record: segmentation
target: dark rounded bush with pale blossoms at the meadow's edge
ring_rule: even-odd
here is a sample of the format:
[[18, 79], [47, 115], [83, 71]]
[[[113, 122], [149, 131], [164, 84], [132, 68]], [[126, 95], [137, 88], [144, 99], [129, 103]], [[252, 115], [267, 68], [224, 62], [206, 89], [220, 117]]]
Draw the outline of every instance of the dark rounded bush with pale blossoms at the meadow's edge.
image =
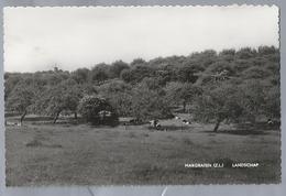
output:
[[117, 126], [118, 115], [112, 106], [103, 98], [97, 96], [85, 96], [78, 106], [78, 111], [92, 124]]

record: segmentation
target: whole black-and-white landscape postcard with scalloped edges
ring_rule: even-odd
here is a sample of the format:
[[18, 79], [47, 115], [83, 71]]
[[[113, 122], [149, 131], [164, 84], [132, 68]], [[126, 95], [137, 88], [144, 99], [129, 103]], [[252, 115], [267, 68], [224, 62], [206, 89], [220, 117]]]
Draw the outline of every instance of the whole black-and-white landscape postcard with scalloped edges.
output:
[[280, 184], [277, 6], [3, 8], [6, 186]]

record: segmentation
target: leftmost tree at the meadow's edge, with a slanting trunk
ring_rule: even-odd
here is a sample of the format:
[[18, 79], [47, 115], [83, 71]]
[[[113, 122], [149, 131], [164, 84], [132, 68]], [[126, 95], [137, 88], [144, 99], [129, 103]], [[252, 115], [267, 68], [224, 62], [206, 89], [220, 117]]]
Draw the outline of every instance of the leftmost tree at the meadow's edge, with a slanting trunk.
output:
[[10, 111], [15, 111], [22, 113], [20, 118], [20, 123], [22, 124], [29, 107], [34, 102], [35, 94], [31, 86], [26, 86], [24, 83], [19, 83], [7, 100], [7, 109]]

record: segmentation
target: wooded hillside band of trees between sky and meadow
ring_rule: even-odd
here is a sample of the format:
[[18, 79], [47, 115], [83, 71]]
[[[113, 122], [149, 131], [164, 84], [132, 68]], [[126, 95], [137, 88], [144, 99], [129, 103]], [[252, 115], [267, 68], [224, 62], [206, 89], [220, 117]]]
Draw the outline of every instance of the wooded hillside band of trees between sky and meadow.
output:
[[[279, 50], [274, 46], [207, 50], [188, 56], [100, 63], [74, 72], [6, 73], [7, 112], [54, 117], [85, 113], [86, 96], [105, 99], [119, 117], [141, 120], [188, 112], [213, 122], [279, 118]], [[87, 98], [85, 98], [87, 100]]]

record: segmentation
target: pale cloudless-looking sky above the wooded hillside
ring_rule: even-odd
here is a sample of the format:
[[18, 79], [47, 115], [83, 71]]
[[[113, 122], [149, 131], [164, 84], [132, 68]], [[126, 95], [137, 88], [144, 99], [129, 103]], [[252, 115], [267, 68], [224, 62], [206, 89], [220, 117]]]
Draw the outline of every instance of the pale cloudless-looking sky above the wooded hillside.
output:
[[279, 46], [278, 8], [4, 8], [4, 70], [92, 67], [260, 45]]

